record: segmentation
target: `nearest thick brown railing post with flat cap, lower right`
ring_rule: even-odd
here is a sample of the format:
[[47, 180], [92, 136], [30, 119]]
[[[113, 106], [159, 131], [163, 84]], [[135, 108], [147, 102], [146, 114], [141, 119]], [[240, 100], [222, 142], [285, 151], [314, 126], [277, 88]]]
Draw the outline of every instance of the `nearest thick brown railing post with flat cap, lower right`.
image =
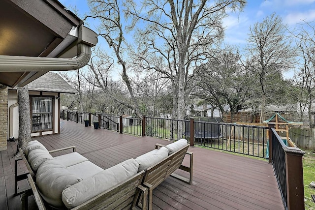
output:
[[299, 148], [286, 147], [285, 172], [288, 210], [304, 210], [303, 162], [305, 154]]

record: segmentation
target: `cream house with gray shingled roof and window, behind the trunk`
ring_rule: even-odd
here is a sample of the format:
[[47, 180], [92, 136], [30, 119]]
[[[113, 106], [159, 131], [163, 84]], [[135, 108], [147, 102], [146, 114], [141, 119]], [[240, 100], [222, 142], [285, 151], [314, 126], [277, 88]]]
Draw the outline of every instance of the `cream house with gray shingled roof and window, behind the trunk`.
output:
[[[30, 94], [32, 136], [60, 132], [60, 93], [75, 93], [57, 73], [48, 72], [31, 82]], [[6, 113], [5, 113], [6, 114]], [[8, 89], [7, 139], [19, 137], [19, 109], [16, 88]]]

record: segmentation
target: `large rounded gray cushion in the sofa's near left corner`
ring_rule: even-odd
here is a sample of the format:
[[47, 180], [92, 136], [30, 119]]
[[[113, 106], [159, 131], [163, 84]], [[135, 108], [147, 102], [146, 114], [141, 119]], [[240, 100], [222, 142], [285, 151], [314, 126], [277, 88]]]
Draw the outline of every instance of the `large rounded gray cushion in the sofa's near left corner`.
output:
[[81, 181], [56, 160], [42, 163], [36, 174], [36, 184], [43, 199], [54, 208], [64, 208], [62, 191]]

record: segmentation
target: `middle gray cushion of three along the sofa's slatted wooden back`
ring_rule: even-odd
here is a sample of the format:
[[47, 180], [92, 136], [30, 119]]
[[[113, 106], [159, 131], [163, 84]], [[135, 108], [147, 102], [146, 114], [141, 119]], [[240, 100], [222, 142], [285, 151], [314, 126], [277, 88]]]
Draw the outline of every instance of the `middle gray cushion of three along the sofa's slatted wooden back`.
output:
[[161, 147], [159, 150], [152, 150], [136, 158], [139, 163], [138, 172], [146, 170], [150, 166], [158, 163], [160, 160], [168, 156], [168, 150], [165, 147]]

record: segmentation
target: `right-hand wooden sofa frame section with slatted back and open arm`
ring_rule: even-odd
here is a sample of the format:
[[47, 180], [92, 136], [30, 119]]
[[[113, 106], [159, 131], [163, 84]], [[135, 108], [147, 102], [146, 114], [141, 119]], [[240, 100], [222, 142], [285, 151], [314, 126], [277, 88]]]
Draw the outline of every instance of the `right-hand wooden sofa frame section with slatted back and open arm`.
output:
[[[159, 147], [163, 147], [164, 145], [156, 144], [155, 149]], [[193, 153], [187, 151], [189, 148], [189, 144], [185, 147], [177, 150], [176, 152], [168, 155], [155, 165], [149, 167], [145, 171], [145, 175], [143, 178], [143, 186], [148, 188], [149, 190], [149, 199], [148, 199], [148, 207], [149, 210], [152, 210], [152, 199], [153, 199], [153, 190], [163, 182], [168, 176], [175, 177], [176, 179], [182, 180], [186, 183], [192, 183], [192, 164], [193, 164]], [[183, 166], [182, 162], [184, 160], [185, 155], [189, 155], [189, 167]], [[174, 172], [177, 169], [184, 170], [189, 173], [189, 179], [182, 177]]]

